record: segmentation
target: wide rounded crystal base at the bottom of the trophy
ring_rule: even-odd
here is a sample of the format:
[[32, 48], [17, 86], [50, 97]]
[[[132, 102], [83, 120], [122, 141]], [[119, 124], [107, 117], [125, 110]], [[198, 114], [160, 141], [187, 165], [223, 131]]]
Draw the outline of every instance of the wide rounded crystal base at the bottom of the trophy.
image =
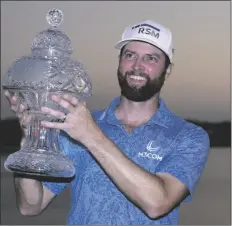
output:
[[37, 150], [19, 150], [10, 154], [4, 162], [9, 172], [18, 174], [71, 178], [75, 175], [73, 162], [62, 153]]

